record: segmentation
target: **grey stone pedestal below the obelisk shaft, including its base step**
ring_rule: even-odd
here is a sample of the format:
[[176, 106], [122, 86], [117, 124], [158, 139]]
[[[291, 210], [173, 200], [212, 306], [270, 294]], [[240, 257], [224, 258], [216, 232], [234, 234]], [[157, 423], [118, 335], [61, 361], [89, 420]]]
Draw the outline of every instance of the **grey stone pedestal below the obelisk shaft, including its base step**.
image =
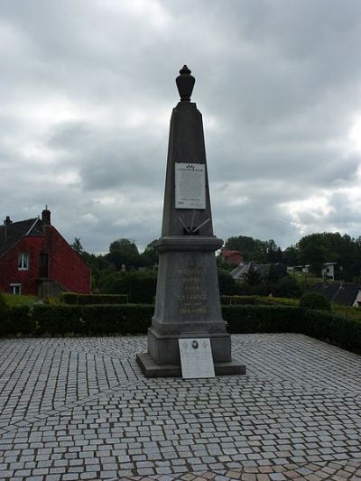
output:
[[216, 375], [244, 375], [232, 361], [231, 338], [222, 319], [214, 251], [215, 236], [164, 236], [148, 352], [136, 360], [147, 377], [180, 376], [180, 338], [209, 338]]

